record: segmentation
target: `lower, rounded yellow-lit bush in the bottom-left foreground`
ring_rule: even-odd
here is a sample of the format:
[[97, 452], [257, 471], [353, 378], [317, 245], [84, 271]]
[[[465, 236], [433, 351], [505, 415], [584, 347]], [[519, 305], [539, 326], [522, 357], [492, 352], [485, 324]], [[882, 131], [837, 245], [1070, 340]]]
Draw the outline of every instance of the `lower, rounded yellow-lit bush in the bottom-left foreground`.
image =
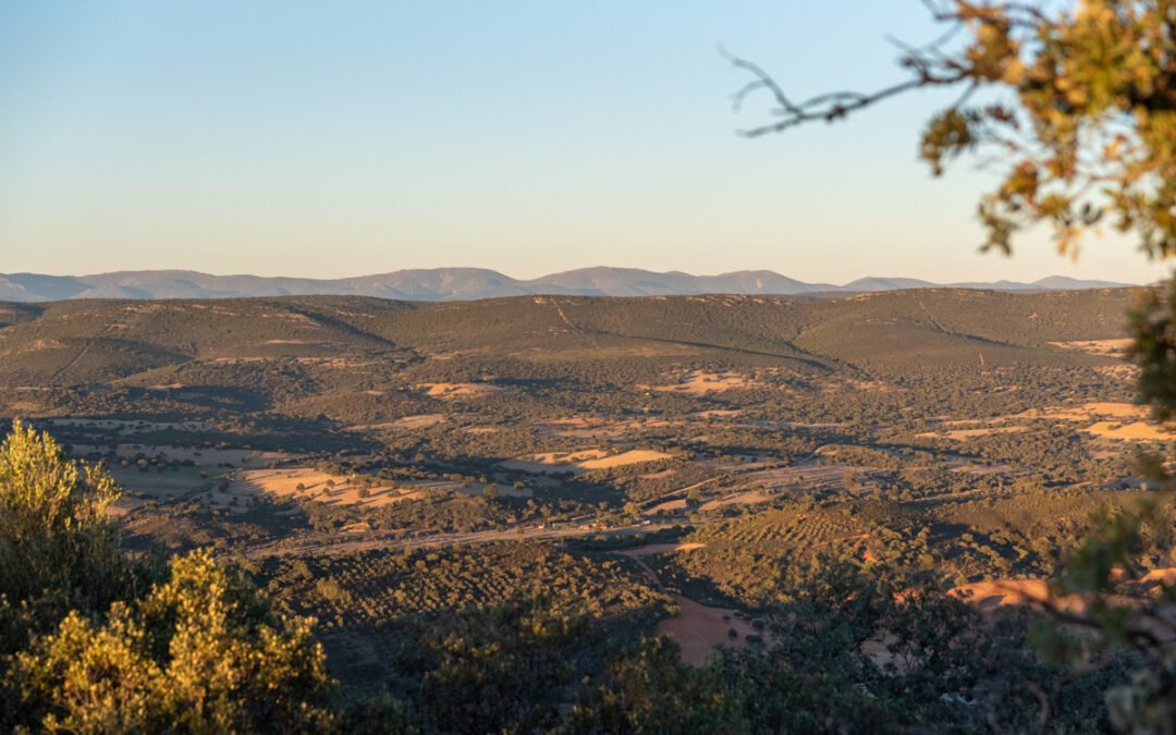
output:
[[48, 731], [318, 731], [332, 681], [307, 620], [276, 616], [209, 552], [106, 622], [71, 613], [18, 656], [26, 706]]

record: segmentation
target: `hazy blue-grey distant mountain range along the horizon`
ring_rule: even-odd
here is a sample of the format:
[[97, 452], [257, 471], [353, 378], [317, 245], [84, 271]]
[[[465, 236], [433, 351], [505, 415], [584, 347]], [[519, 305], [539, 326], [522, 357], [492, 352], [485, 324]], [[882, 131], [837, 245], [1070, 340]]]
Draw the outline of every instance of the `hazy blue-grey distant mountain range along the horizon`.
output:
[[358, 295], [408, 301], [465, 301], [529, 294], [580, 296], [671, 296], [691, 294], [837, 294], [906, 288], [982, 288], [1009, 292], [1121, 288], [1129, 283], [1054, 275], [1016, 281], [931, 283], [918, 279], [866, 278], [835, 286], [806, 283], [771, 270], [690, 275], [636, 268], [581, 268], [532, 280], [485, 268], [396, 270], [350, 279], [209, 275], [193, 270], [122, 270], [96, 275], [0, 274], [0, 301], [62, 299], [229, 299], [242, 296]]

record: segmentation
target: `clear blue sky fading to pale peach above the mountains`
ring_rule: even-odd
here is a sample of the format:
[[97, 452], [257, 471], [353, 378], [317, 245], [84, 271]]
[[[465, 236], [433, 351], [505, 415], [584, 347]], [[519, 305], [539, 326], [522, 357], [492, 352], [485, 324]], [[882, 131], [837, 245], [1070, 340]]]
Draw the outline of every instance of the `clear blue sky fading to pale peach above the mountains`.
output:
[[720, 45], [797, 96], [894, 80], [917, 0], [0, 4], [0, 272], [612, 265], [1147, 281], [1127, 240], [978, 255], [922, 93], [748, 141]]

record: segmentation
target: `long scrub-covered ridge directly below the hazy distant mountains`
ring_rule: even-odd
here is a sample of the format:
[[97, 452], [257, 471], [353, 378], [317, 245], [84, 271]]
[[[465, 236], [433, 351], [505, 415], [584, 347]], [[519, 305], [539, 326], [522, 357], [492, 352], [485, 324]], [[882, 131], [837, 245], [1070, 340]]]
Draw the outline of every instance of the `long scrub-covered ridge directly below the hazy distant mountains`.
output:
[[[835, 300], [757, 296], [520, 296], [454, 303], [292, 296], [216, 301], [0, 303], [0, 382], [186, 385], [209, 373], [443, 360], [656, 360], [887, 370], [930, 365], [1075, 365], [1109, 359], [1050, 342], [1123, 336], [1127, 290], [928, 289]], [[250, 367], [253, 366], [253, 367]], [[193, 370], [196, 374], [191, 374]], [[189, 373], [189, 375], [180, 375]], [[229, 381], [232, 383], [233, 381]], [[212, 383], [215, 385], [215, 381]]]

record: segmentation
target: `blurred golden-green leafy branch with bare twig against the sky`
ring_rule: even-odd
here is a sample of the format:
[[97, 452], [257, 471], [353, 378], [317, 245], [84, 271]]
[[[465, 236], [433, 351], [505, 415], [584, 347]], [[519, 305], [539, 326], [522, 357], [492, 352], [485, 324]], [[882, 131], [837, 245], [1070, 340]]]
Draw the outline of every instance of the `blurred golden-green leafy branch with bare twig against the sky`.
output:
[[[762, 67], [731, 58], [753, 80], [735, 95], [767, 93], [775, 120], [749, 138], [833, 122], [915, 89], [962, 87], [931, 118], [920, 156], [934, 174], [984, 148], [1003, 180], [978, 205], [984, 249], [1044, 222], [1060, 252], [1107, 219], [1135, 232], [1151, 258], [1176, 254], [1176, 7], [1168, 0], [1080, 0], [1073, 12], [1023, 2], [926, 0], [947, 26], [936, 41], [902, 49], [908, 79], [875, 92], [794, 101]], [[963, 39], [958, 41], [957, 39]], [[981, 91], [1009, 94], [973, 102]], [[991, 96], [991, 95], [985, 95]]]

